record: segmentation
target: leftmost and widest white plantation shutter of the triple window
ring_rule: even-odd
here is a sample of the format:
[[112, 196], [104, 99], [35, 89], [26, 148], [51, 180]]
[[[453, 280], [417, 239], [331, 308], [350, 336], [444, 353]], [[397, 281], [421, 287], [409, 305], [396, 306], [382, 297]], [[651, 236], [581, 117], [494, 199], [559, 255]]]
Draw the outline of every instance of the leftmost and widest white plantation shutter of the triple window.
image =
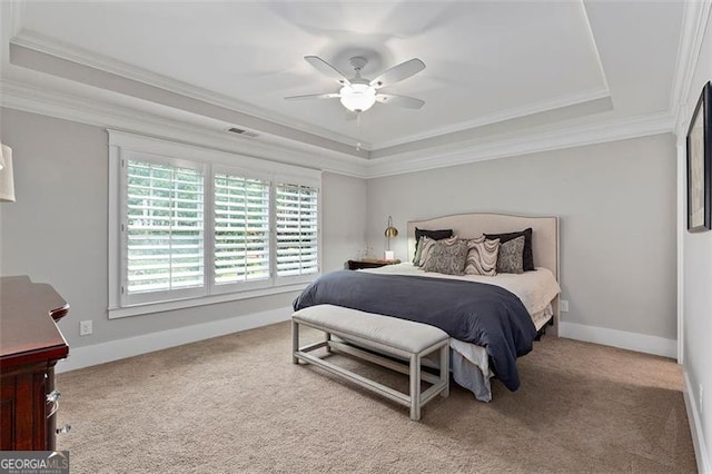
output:
[[205, 285], [202, 170], [128, 160], [127, 296]]

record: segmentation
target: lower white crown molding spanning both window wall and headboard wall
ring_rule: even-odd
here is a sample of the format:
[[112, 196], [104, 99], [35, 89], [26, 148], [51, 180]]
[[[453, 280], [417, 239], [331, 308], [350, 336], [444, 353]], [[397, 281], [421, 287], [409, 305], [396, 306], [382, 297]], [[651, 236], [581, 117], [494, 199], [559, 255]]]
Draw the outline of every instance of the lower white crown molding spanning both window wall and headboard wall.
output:
[[[279, 144], [260, 142], [226, 136], [212, 128], [187, 121], [167, 119], [135, 109], [108, 105], [69, 93], [48, 91], [17, 82], [0, 81], [2, 107], [61, 118], [70, 121], [130, 131], [157, 138], [198, 145], [276, 162], [298, 165], [362, 179], [424, 171], [455, 165], [528, 155], [538, 151], [572, 148], [606, 141], [672, 132], [673, 119], [668, 112], [634, 119], [581, 125], [555, 131], [530, 134], [514, 139], [463, 144], [456, 150], [424, 149], [417, 152], [364, 160], [328, 152], [291, 140]], [[279, 138], [270, 137], [275, 140]]]

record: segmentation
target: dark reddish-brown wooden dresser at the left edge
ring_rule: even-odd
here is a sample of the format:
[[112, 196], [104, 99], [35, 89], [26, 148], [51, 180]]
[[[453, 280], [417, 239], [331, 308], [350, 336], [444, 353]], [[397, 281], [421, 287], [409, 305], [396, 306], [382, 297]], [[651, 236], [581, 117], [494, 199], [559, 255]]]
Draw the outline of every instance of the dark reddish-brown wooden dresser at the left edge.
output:
[[68, 312], [50, 285], [0, 278], [0, 451], [55, 450], [55, 365], [69, 353], [56, 323]]

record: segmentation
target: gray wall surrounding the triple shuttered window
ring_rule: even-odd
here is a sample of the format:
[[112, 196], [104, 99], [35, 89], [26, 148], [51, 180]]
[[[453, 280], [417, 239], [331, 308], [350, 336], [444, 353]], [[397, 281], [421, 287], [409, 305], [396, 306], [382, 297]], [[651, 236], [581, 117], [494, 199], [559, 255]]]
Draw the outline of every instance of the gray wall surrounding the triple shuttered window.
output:
[[[295, 293], [189, 309], [107, 318], [108, 135], [99, 127], [2, 109], [13, 149], [17, 203], [0, 204], [0, 275], [49, 283], [70, 303], [60, 328], [71, 347], [287, 307]], [[363, 179], [323, 178], [323, 266], [342, 268], [363, 248]], [[79, 322], [93, 334], [79, 337]]]

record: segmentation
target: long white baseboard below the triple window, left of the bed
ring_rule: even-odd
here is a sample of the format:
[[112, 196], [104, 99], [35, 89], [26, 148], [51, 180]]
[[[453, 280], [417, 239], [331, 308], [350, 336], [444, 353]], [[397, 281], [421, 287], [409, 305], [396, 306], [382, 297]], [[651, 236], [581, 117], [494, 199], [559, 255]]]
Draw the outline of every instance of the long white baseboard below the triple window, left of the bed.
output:
[[91, 365], [224, 336], [259, 326], [267, 326], [269, 324], [288, 320], [291, 317], [291, 313], [293, 309], [290, 307], [285, 307], [125, 339], [110, 340], [91, 346], [70, 347], [69, 357], [57, 363], [56, 372], [76, 371]]

